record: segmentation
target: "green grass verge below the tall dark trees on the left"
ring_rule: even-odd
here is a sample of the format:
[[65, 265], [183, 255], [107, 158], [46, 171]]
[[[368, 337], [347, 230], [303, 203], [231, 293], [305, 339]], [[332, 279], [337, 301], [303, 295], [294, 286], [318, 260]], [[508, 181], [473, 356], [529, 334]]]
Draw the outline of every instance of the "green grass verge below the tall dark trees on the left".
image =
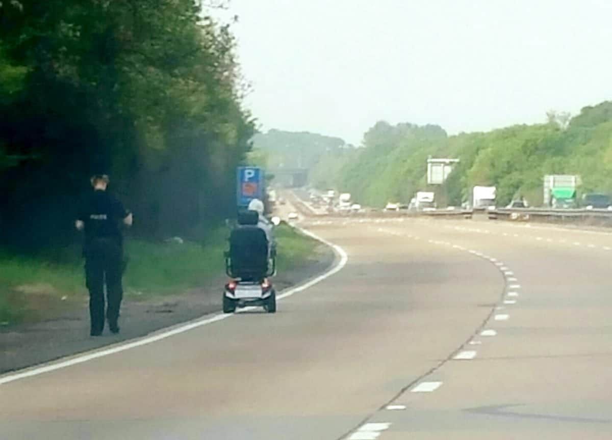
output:
[[[318, 243], [312, 238], [286, 224], [274, 233], [279, 272], [299, 268], [318, 257]], [[228, 230], [218, 228], [203, 243], [127, 240], [125, 295], [146, 299], [176, 294], [223, 276], [227, 237]], [[83, 263], [76, 258], [53, 263], [44, 257], [0, 254], [0, 325], [49, 317], [54, 311], [83, 301], [87, 298]]]

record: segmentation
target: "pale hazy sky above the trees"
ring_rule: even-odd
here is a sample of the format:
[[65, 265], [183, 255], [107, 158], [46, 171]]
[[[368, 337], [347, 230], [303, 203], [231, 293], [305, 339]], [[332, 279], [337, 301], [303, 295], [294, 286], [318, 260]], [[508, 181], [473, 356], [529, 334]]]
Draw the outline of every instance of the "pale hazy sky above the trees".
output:
[[449, 133], [612, 99], [609, 0], [231, 0], [261, 128], [359, 143], [377, 120]]

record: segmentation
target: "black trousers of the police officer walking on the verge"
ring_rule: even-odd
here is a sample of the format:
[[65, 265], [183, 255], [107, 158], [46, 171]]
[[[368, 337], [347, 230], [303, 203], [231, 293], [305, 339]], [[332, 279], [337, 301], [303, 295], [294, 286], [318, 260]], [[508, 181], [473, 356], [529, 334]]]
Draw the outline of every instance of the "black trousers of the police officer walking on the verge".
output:
[[116, 325], [123, 298], [121, 285], [123, 251], [117, 240], [98, 238], [91, 240], [85, 249], [85, 278], [89, 289], [89, 315], [92, 333], [104, 329], [104, 282], [108, 307], [106, 318]]

